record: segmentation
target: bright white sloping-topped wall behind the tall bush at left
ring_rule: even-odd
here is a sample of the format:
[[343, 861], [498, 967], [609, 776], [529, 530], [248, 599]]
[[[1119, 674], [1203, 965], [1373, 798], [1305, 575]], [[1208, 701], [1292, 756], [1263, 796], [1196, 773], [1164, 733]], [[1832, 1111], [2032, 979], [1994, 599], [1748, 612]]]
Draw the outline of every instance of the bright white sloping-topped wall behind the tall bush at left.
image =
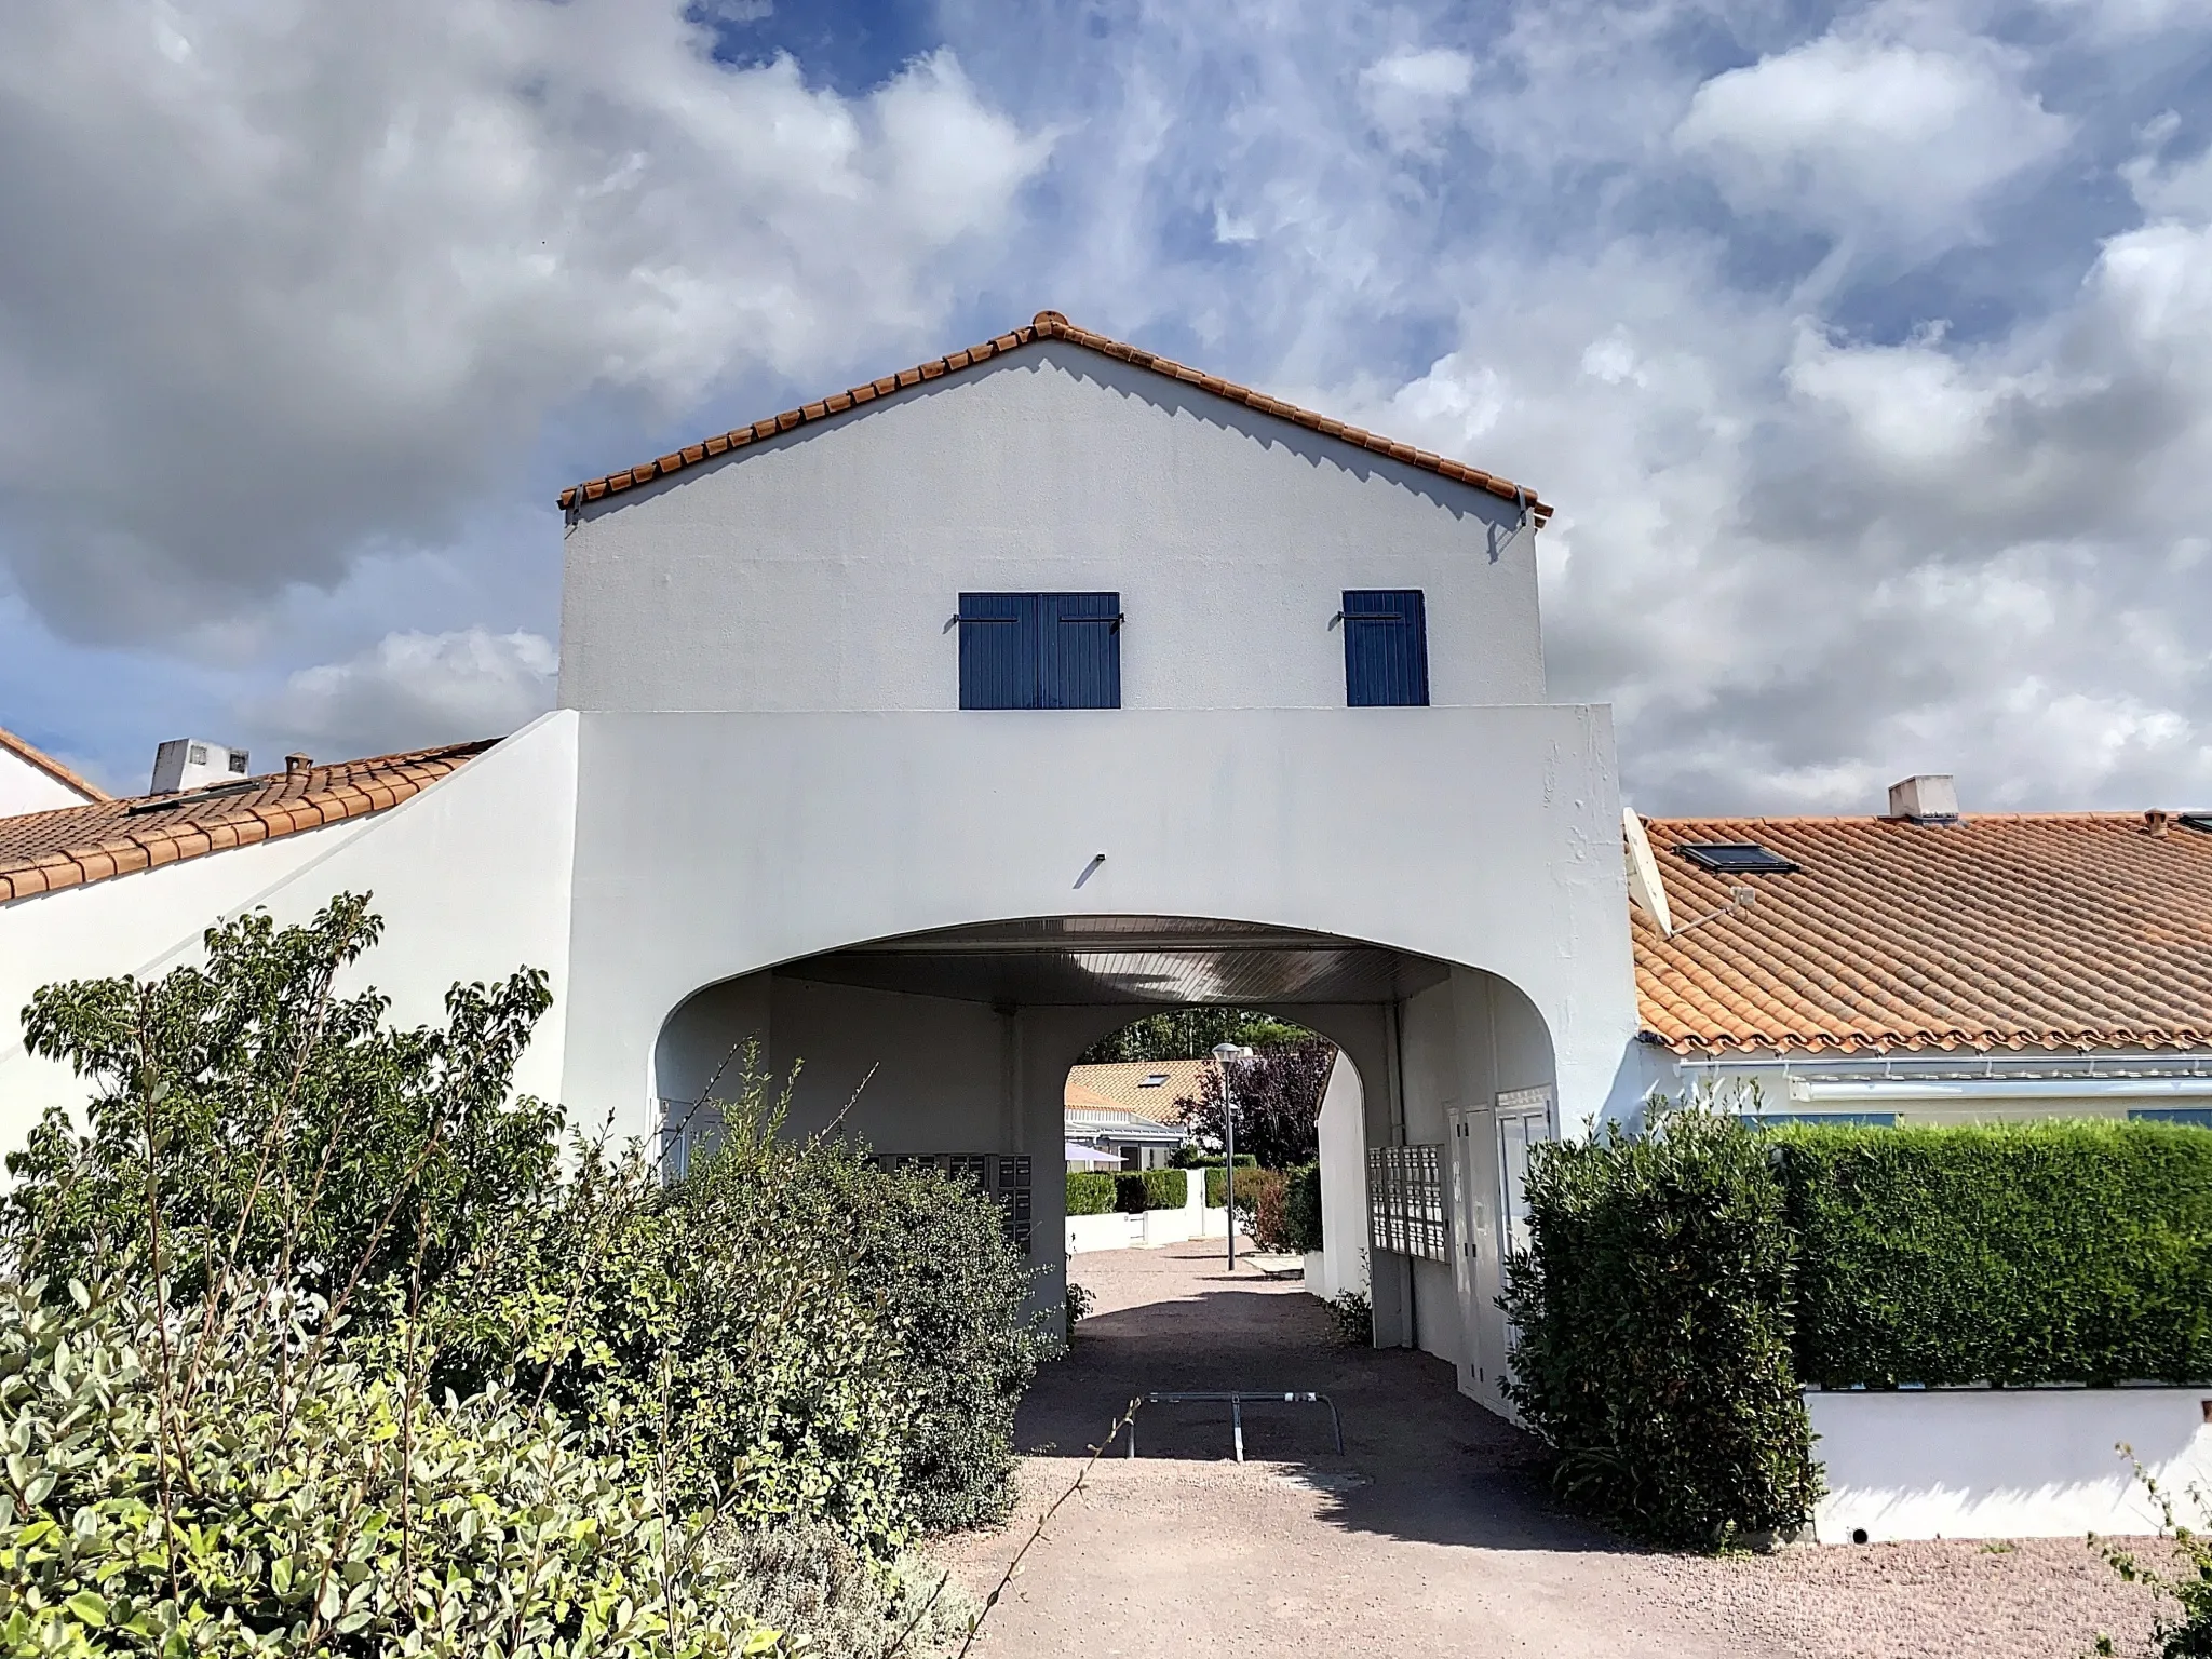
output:
[[221, 918], [268, 907], [279, 922], [307, 920], [338, 891], [376, 898], [385, 945], [354, 982], [383, 989], [398, 1022], [442, 1018], [456, 980], [546, 969], [553, 1013], [515, 1082], [557, 1099], [573, 823], [575, 717], [549, 714], [389, 812], [0, 905], [0, 1144], [88, 1095], [66, 1066], [22, 1048], [18, 1011], [40, 984], [164, 973], [195, 960]]

